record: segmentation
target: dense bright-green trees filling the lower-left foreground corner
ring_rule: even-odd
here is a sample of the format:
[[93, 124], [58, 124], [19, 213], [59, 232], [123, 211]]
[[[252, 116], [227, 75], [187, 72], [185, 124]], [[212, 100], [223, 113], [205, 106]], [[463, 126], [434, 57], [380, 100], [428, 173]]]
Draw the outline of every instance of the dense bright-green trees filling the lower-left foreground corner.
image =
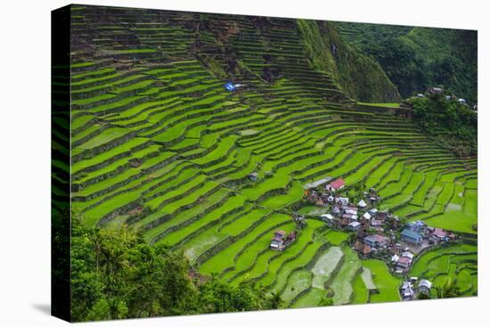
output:
[[267, 310], [278, 296], [246, 283], [192, 274], [182, 252], [150, 245], [126, 225], [88, 228], [81, 218], [71, 229], [72, 321], [143, 318]]

